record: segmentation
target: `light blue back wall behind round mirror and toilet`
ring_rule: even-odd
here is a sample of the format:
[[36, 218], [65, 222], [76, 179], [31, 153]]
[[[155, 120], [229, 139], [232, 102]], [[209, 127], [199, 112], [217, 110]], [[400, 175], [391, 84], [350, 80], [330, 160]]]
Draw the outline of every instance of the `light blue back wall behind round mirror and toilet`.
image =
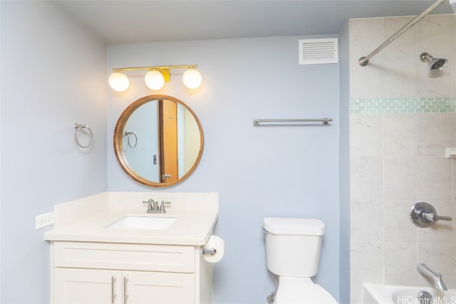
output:
[[[177, 75], [183, 70], [172, 70], [172, 81], [157, 92], [184, 101], [201, 120], [205, 147], [195, 172], [175, 187], [150, 189], [127, 177], [108, 149], [108, 190], [219, 193], [214, 232], [224, 239], [226, 251], [215, 265], [218, 304], [265, 303], [275, 289], [266, 270], [264, 216], [326, 223], [316, 282], [339, 296], [338, 65], [298, 65], [299, 38], [304, 37], [108, 47], [108, 68], [197, 64], [202, 73], [196, 93], [183, 88]], [[126, 92], [109, 92], [108, 134], [130, 103], [154, 93], [145, 88], [144, 73], [133, 75]], [[328, 127], [252, 124], [255, 118], [318, 117], [334, 122]], [[346, 246], [341, 245], [348, 251]]]

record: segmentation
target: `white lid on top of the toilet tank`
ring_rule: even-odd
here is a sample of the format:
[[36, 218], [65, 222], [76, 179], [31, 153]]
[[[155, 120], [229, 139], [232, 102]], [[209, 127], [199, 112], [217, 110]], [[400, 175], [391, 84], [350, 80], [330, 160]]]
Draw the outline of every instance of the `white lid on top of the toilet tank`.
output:
[[319, 219], [265, 217], [263, 228], [272, 234], [321, 236], [325, 233], [325, 224]]

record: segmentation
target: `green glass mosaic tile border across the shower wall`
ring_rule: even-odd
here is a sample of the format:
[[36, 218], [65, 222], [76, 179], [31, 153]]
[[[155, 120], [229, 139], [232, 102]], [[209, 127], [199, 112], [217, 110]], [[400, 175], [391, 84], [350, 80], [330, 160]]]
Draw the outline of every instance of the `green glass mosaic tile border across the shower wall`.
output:
[[456, 97], [351, 99], [350, 114], [408, 114], [456, 112]]

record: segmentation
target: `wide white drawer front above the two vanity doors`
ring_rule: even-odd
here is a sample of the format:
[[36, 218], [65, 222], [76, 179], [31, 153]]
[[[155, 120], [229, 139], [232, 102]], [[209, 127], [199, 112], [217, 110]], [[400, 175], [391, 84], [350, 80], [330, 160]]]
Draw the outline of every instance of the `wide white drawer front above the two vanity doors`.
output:
[[195, 272], [195, 247], [56, 241], [55, 267]]

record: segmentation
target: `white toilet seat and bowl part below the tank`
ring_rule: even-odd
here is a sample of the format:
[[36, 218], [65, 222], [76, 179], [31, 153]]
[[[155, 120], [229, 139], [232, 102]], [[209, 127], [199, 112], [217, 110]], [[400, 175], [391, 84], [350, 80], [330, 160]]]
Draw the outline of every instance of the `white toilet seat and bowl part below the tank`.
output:
[[337, 304], [333, 296], [311, 278], [279, 277], [276, 304]]

